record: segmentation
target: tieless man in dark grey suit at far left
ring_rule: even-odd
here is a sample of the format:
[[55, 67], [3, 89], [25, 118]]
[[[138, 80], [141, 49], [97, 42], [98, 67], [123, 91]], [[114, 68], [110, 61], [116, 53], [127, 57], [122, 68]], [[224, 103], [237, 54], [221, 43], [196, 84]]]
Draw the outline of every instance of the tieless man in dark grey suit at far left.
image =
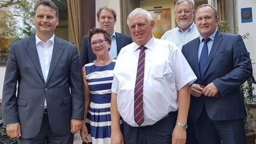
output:
[[77, 48], [54, 35], [59, 18], [52, 1], [36, 3], [34, 23], [36, 35], [12, 43], [9, 50], [3, 121], [19, 144], [72, 144], [84, 117]]

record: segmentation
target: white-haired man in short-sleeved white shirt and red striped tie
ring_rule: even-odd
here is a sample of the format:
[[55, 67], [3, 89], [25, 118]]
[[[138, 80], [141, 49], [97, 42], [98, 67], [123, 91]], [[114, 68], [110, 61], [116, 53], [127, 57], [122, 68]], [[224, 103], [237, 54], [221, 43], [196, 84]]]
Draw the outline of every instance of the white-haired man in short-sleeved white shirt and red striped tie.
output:
[[153, 37], [148, 11], [136, 8], [127, 24], [135, 42], [121, 50], [113, 71], [111, 143], [184, 144], [196, 76], [174, 44]]

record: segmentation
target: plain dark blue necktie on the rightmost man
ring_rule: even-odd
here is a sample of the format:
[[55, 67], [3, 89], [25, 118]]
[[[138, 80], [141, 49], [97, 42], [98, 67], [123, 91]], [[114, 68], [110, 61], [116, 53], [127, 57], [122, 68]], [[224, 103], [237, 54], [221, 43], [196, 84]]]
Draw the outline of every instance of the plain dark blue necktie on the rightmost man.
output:
[[208, 60], [208, 46], [207, 43], [208, 41], [211, 40], [210, 38], [207, 39], [203, 39], [204, 41], [204, 46], [200, 55], [200, 59], [199, 59], [199, 68], [200, 68], [200, 74], [201, 77], [203, 78], [203, 74], [205, 71], [205, 67], [207, 65], [207, 60]]

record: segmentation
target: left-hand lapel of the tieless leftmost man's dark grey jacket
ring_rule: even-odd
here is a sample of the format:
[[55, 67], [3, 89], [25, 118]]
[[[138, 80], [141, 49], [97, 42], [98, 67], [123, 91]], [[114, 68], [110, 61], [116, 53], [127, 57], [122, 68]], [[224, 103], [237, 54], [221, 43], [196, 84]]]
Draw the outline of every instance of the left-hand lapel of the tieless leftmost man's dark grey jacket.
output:
[[41, 69], [38, 53], [37, 53], [37, 50], [36, 50], [36, 37], [35, 37], [35, 35], [29, 37], [29, 39], [27, 40], [26, 50], [27, 50], [27, 53], [28, 53], [32, 63], [34, 64], [34, 66], [36, 68], [36, 71], [39, 73], [40, 77], [44, 81], [44, 75], [43, 75], [43, 72], [42, 72], [42, 69]]

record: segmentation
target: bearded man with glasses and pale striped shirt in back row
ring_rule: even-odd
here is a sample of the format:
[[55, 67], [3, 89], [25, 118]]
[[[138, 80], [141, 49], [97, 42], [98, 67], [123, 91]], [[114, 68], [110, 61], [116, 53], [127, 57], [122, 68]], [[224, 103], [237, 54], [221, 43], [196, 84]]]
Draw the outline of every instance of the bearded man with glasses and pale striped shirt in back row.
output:
[[[177, 21], [177, 27], [164, 33], [162, 40], [168, 40], [177, 45], [181, 50], [182, 46], [199, 36], [193, 17], [195, 13], [194, 0], [178, 0], [175, 3], [174, 15]], [[187, 144], [197, 144], [196, 131], [188, 114]]]

